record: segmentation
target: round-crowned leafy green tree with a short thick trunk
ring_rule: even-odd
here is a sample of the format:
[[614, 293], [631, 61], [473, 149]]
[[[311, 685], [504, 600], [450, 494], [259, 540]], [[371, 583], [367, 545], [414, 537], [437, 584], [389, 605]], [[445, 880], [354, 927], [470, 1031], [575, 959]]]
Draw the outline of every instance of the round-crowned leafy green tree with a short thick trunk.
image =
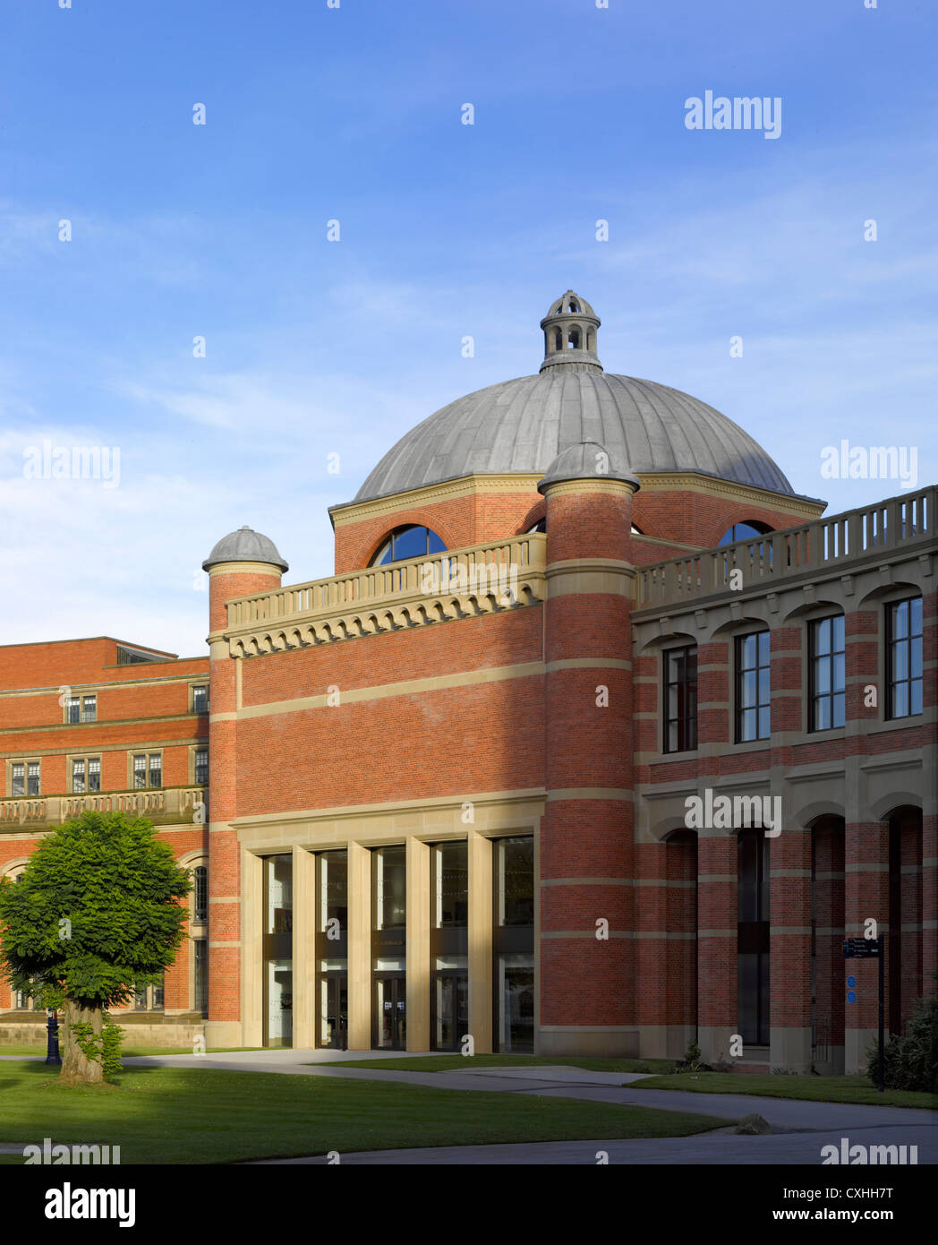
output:
[[107, 1007], [157, 984], [184, 937], [189, 874], [151, 822], [82, 813], [52, 830], [19, 883], [0, 880], [0, 969], [60, 1011], [61, 1078], [102, 1081]]

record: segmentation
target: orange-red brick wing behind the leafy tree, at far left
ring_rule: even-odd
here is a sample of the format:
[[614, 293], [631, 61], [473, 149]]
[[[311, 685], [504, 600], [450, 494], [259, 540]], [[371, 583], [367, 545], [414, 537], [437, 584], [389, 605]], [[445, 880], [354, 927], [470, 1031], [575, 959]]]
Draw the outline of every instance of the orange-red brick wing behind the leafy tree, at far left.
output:
[[[41, 834], [85, 809], [148, 817], [194, 870], [190, 939], [122, 1008], [138, 1041], [199, 1032], [208, 990], [208, 659], [179, 660], [109, 636], [0, 647], [0, 876]], [[35, 1041], [31, 1000], [0, 981], [0, 1041]]]

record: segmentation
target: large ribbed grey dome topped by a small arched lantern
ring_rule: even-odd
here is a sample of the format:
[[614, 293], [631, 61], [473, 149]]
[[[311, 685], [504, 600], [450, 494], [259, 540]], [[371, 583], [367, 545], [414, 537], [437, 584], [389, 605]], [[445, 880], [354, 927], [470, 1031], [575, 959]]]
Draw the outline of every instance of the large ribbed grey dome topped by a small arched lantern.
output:
[[738, 423], [680, 390], [605, 372], [600, 320], [572, 290], [541, 321], [537, 376], [489, 385], [408, 432], [372, 471], [356, 502], [469, 474], [539, 474], [569, 446], [601, 442], [642, 472], [695, 471], [774, 493], [795, 492]]

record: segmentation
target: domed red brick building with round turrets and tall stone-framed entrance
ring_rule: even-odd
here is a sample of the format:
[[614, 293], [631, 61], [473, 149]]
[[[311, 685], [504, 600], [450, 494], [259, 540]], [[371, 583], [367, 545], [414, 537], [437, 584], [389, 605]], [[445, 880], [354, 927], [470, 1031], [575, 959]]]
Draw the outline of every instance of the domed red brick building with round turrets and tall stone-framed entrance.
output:
[[[207, 559], [208, 845], [167, 833], [208, 850], [210, 1046], [853, 1071], [843, 936], [885, 935], [893, 1031], [933, 989], [934, 487], [822, 518], [598, 327], [567, 291], [536, 376], [398, 442], [332, 508], [332, 578], [282, 585], [248, 528]], [[49, 660], [0, 703], [56, 703]]]

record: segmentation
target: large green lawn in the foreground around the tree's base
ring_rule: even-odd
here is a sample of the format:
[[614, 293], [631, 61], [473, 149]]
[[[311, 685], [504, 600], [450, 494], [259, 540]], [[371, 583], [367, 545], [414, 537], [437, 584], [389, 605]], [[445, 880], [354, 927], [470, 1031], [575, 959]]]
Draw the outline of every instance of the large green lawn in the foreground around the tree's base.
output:
[[727, 1123], [612, 1103], [200, 1068], [133, 1068], [114, 1084], [67, 1088], [44, 1063], [0, 1063], [0, 1142], [119, 1145], [124, 1165], [688, 1137]]

